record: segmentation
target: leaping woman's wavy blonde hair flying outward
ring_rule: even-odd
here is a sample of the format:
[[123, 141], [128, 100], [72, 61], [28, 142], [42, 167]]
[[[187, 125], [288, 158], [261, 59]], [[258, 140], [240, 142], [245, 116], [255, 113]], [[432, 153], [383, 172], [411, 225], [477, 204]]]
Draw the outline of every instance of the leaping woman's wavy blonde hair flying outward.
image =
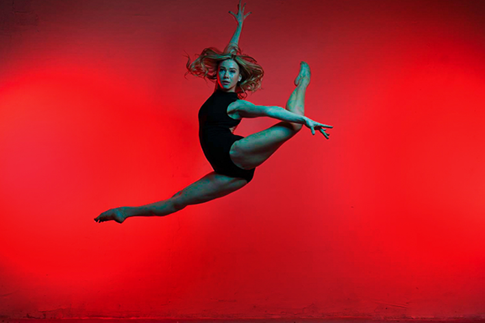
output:
[[[197, 54], [196, 54], [197, 55]], [[243, 54], [237, 44], [230, 42], [223, 52], [215, 47], [208, 47], [204, 49], [194, 62], [190, 63], [190, 56], [188, 56], [187, 74], [192, 74], [197, 77], [209, 79], [212, 82], [217, 80], [217, 68], [224, 60], [234, 60], [239, 66], [239, 73], [242, 76], [241, 81], [236, 86], [236, 93], [239, 99], [247, 97], [246, 91], [256, 92], [261, 88], [262, 77], [264, 70], [257, 61], [246, 54]]]

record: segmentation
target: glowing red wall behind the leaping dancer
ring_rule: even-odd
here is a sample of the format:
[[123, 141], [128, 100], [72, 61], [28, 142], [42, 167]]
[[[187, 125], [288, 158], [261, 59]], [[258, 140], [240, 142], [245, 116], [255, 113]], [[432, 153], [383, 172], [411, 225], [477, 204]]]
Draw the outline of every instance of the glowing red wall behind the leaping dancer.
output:
[[[234, 1], [0, 3], [0, 314], [485, 317], [482, 1], [247, 1], [248, 97], [306, 128], [242, 190], [164, 218], [93, 221], [212, 171], [186, 57]], [[249, 135], [276, 120], [242, 120]]]

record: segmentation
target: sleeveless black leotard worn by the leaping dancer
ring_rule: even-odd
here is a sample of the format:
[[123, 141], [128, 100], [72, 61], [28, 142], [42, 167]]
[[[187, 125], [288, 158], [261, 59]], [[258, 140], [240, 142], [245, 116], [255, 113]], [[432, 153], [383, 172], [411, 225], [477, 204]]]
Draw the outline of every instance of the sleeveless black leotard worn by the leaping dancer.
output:
[[242, 169], [229, 157], [232, 144], [244, 138], [234, 135], [229, 130], [241, 122], [227, 115], [227, 107], [237, 99], [236, 92], [217, 89], [206, 103], [203, 103], [199, 109], [199, 140], [202, 151], [215, 172], [230, 177], [241, 177], [249, 183], [256, 168]]

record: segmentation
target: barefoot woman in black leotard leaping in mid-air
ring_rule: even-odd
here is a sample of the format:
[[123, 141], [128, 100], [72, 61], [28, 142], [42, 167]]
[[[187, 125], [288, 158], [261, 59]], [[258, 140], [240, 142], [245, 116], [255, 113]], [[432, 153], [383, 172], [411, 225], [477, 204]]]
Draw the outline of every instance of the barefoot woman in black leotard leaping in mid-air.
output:
[[[310, 67], [300, 63], [300, 71], [295, 78], [295, 90], [283, 107], [254, 105], [245, 101], [246, 91], [255, 92], [261, 88], [264, 71], [256, 60], [242, 54], [238, 41], [242, 23], [251, 14], [244, 14], [246, 4], [232, 14], [238, 23], [231, 41], [223, 53], [214, 47], [206, 48], [190, 64], [188, 73], [208, 78], [216, 83], [214, 93], [199, 109], [199, 141], [204, 155], [214, 172], [175, 193], [171, 198], [140, 207], [116, 207], [103, 212], [96, 222], [114, 220], [123, 223], [133, 216], [167, 216], [188, 205], [195, 205], [221, 198], [240, 190], [253, 179], [256, 167], [268, 159], [284, 142], [293, 138], [305, 125], [312, 131], [320, 131], [325, 138], [329, 134], [323, 125], [305, 116], [305, 92], [310, 83]], [[242, 118], [269, 116], [282, 120], [269, 129], [253, 133], [247, 137], [234, 135], [234, 129]]]

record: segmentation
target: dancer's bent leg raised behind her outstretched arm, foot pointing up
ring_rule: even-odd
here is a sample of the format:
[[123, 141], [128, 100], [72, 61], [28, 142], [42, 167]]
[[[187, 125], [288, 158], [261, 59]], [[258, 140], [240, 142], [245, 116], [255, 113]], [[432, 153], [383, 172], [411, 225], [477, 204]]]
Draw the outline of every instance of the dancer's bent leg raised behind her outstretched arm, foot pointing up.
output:
[[[295, 79], [297, 88], [290, 95], [286, 109], [295, 114], [305, 114], [305, 92], [310, 83], [310, 66], [301, 62], [300, 73]], [[230, 156], [234, 164], [243, 169], [252, 169], [268, 159], [277, 148], [293, 137], [303, 125], [286, 121], [278, 122], [269, 129], [253, 133], [234, 142]]]

